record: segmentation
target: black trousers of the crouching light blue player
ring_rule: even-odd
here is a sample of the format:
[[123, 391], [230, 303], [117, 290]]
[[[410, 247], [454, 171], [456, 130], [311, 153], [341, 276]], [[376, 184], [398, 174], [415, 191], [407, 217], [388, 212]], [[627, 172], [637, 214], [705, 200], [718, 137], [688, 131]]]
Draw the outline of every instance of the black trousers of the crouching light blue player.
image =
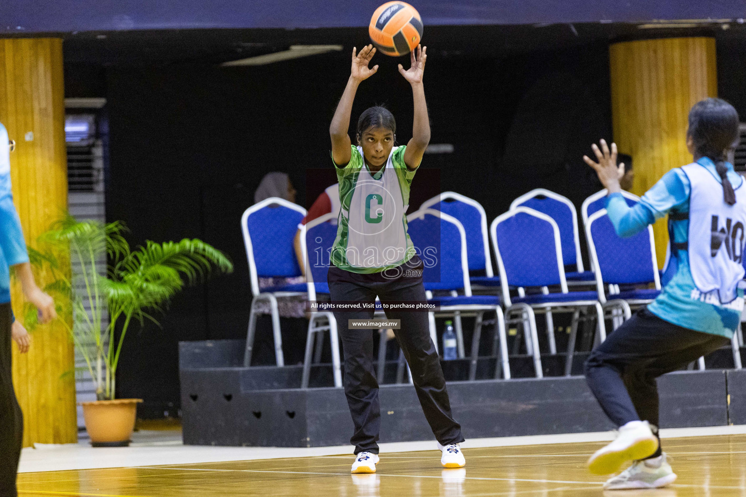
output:
[[[728, 342], [668, 323], [642, 308], [591, 352], [584, 367], [586, 382], [615, 425], [643, 420], [657, 427], [656, 378]], [[660, 450], [659, 446], [651, 457], [660, 455]]]

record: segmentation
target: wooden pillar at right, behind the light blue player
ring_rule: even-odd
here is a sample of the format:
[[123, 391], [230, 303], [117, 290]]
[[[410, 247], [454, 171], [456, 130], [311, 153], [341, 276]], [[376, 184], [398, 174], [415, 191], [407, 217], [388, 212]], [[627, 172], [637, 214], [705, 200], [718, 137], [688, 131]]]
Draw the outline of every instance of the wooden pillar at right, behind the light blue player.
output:
[[[645, 39], [609, 48], [614, 141], [633, 157], [633, 193], [642, 195], [671, 168], [692, 162], [686, 150], [693, 104], [715, 97], [715, 39]], [[653, 226], [662, 268], [668, 244], [665, 219]]]

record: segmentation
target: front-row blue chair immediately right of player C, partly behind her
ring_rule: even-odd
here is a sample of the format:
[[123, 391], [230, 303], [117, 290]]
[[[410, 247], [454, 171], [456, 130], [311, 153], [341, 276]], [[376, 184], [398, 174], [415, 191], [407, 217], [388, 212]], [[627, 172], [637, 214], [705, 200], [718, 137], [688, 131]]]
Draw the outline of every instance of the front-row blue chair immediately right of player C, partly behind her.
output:
[[[466, 230], [453, 216], [435, 209], [420, 209], [407, 216], [410, 238], [424, 264], [424, 288], [430, 302], [439, 306], [440, 312], [474, 314], [474, 337], [471, 341], [469, 379], [477, 371], [477, 356], [482, 332], [483, 314], [494, 311], [496, 317], [495, 341], [498, 342], [501, 360], [495, 367], [495, 377], [502, 371], [510, 379], [507, 355], [507, 337], [500, 297], [497, 295], [471, 294], [468, 276]], [[430, 337], [437, 347], [435, 314], [429, 313]], [[461, 338], [463, 341], [463, 338]]]

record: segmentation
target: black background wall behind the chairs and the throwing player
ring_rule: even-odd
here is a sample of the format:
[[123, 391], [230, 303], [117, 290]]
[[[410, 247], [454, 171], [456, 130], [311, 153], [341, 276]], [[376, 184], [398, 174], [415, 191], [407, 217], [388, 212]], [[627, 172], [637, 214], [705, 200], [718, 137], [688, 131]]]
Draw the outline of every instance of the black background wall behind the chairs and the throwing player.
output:
[[[735, 46], [718, 51], [721, 96], [744, 114], [741, 54]], [[251, 288], [241, 214], [269, 171], [289, 174], [302, 206], [319, 194], [317, 169], [331, 167], [327, 129], [348, 77], [348, 57], [345, 48], [252, 68], [66, 68], [67, 96], [107, 98], [107, 218], [125, 221], [132, 243], [198, 237], [236, 265], [233, 274], [176, 297], [160, 316], [160, 328], [146, 324], [128, 335], [119, 395], [145, 399], [141, 414], [178, 409], [178, 341], [245, 336]], [[406, 143], [412, 101], [397, 62], [377, 57], [381, 68], [360, 86], [352, 114], [354, 121], [366, 107], [386, 104], [397, 118], [398, 142]], [[580, 157], [592, 142], [612, 137], [608, 68], [606, 41], [504, 57], [433, 51], [425, 77], [431, 143], [451, 143], [454, 153], [428, 154], [422, 167], [439, 168], [442, 191], [479, 200], [489, 220], [539, 187], [579, 207], [600, 188]], [[417, 187], [416, 179], [410, 212], [424, 200], [416, 197]], [[261, 339], [269, 335], [268, 324], [260, 322], [259, 356], [273, 361], [269, 341]], [[286, 347], [302, 349], [304, 326], [285, 326]]]

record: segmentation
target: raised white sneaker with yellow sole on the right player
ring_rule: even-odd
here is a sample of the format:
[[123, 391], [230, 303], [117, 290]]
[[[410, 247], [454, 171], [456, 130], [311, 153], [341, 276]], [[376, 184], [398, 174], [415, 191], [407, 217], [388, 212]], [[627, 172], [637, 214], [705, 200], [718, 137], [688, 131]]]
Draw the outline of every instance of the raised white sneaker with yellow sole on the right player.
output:
[[629, 460], [647, 458], [658, 449], [658, 439], [647, 421], [630, 421], [619, 428], [616, 439], [598, 449], [588, 460], [588, 470], [594, 475], [609, 475], [619, 471]]

